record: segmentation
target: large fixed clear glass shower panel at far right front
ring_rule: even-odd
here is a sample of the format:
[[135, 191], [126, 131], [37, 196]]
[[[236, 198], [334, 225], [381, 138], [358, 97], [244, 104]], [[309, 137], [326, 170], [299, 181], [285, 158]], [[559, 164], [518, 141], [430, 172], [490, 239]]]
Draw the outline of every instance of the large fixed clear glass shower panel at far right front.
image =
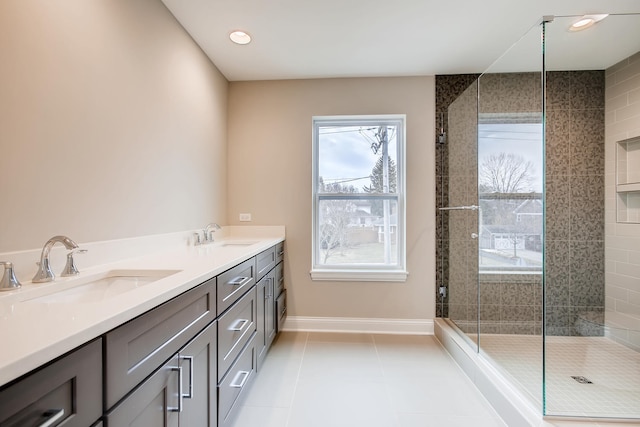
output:
[[545, 24], [545, 414], [637, 419], [640, 14], [583, 18]]

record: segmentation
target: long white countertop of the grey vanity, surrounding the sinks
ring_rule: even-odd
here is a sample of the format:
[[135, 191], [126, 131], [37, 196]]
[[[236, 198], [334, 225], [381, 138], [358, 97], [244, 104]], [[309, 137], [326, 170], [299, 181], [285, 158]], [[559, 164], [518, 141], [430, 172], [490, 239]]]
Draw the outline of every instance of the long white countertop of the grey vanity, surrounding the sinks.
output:
[[[215, 243], [172, 247], [166, 252], [80, 268], [75, 277], [24, 282], [0, 294], [0, 386], [99, 337], [132, 318], [284, 240], [281, 232], [250, 233]], [[264, 233], [263, 233], [264, 234]], [[225, 245], [242, 240], [248, 245]], [[176, 270], [175, 274], [103, 300], [83, 303], [28, 301], [73, 287], [74, 281], [111, 270]]]

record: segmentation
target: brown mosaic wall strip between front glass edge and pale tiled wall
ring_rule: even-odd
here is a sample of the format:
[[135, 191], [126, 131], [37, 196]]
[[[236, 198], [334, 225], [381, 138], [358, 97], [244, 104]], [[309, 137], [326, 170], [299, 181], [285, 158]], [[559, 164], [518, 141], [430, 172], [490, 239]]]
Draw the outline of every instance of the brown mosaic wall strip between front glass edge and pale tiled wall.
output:
[[547, 74], [546, 332], [602, 335], [604, 71]]

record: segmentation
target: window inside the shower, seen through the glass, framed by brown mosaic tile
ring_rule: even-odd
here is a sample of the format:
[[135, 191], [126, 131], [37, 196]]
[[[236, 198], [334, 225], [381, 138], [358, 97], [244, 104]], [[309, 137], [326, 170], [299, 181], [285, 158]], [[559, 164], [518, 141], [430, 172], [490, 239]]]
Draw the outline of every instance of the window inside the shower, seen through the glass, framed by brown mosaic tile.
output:
[[540, 273], [541, 118], [514, 114], [492, 119], [478, 124], [480, 272]]

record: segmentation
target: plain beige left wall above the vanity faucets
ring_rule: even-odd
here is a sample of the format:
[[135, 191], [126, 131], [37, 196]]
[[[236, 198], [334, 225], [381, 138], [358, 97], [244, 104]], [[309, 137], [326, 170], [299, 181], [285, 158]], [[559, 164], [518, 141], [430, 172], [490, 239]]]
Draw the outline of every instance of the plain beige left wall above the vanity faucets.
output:
[[0, 52], [0, 252], [226, 223], [228, 83], [159, 0], [3, 0]]

